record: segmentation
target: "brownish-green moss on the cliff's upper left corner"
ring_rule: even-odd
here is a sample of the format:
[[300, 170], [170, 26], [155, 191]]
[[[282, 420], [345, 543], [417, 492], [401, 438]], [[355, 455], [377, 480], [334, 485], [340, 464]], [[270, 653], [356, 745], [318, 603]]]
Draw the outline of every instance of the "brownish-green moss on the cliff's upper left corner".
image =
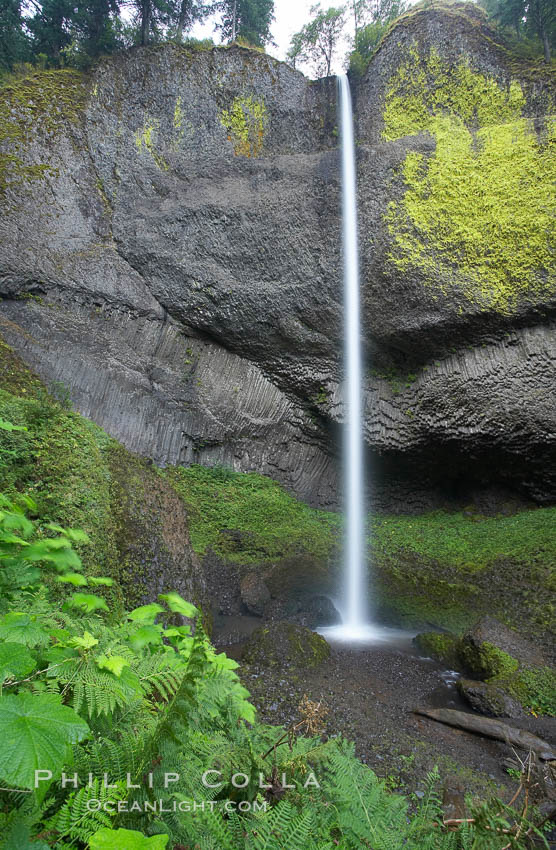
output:
[[29, 163], [25, 148], [38, 133], [50, 138], [76, 124], [85, 102], [78, 71], [38, 71], [12, 76], [0, 87], [0, 195], [7, 188], [56, 176], [50, 162]]

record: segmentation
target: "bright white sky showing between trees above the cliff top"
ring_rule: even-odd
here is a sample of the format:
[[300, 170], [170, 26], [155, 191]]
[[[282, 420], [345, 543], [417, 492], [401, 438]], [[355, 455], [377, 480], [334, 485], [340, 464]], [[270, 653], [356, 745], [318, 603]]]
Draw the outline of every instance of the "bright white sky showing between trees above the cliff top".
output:
[[[274, 0], [274, 21], [271, 27], [272, 38], [276, 42], [276, 46], [267, 45], [265, 48], [267, 53], [275, 56], [277, 59], [285, 59], [286, 52], [290, 46], [291, 37], [294, 33], [299, 32], [303, 24], [306, 24], [311, 17], [310, 9], [314, 6], [317, 0]], [[341, 5], [341, 2], [326, 2], [321, 3], [323, 9], [329, 9], [330, 6]], [[348, 27], [346, 27], [346, 32]], [[350, 34], [350, 33], [348, 33]], [[220, 40], [219, 34], [214, 32], [214, 21], [206, 21], [203, 24], [196, 24], [189, 33], [193, 38], [212, 38], [218, 43]], [[342, 73], [344, 70], [343, 60], [349, 49], [346, 41], [344, 47], [338, 51], [338, 59], [333, 67], [335, 74]], [[300, 70], [308, 76], [312, 76], [309, 68], [299, 66]]]

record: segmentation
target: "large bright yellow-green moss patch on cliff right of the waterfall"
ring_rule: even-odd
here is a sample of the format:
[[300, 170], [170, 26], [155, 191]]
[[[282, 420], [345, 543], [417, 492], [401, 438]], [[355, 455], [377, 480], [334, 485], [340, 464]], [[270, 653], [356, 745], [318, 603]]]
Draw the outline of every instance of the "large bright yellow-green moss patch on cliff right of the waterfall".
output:
[[503, 86], [413, 48], [384, 107], [385, 139], [425, 131], [436, 141], [430, 157], [405, 159], [406, 191], [386, 214], [390, 263], [503, 313], [556, 287], [556, 119], [539, 136], [524, 106], [519, 82]]

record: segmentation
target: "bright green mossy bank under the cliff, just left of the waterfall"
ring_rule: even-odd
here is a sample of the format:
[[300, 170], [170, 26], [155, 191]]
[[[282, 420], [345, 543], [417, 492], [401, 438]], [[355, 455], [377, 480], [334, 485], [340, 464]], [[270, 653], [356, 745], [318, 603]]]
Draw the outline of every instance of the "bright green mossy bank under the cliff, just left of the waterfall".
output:
[[[308, 507], [263, 475], [196, 465], [166, 474], [189, 510], [191, 542], [199, 554], [210, 547], [238, 564], [295, 553], [326, 560], [334, 546], [338, 517]], [[222, 534], [226, 529], [245, 532], [239, 545]]]

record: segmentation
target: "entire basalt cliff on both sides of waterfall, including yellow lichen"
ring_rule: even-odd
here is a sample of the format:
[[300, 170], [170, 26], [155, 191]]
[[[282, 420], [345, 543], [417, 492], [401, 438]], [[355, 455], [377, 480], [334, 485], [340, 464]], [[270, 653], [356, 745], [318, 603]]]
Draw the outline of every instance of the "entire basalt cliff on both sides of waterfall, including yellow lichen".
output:
[[[549, 502], [551, 72], [456, 5], [402, 18], [352, 85], [375, 502]], [[334, 80], [167, 44], [6, 95], [8, 343], [132, 451], [334, 506]]]

